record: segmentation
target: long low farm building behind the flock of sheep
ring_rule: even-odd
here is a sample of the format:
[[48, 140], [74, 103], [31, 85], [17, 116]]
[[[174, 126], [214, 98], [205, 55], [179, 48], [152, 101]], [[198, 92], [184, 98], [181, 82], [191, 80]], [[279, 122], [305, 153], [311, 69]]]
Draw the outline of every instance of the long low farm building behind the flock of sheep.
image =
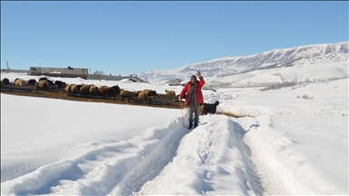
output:
[[53, 67], [30, 67], [29, 75], [48, 75], [53, 77], [81, 77], [87, 79], [87, 68], [53, 68]]

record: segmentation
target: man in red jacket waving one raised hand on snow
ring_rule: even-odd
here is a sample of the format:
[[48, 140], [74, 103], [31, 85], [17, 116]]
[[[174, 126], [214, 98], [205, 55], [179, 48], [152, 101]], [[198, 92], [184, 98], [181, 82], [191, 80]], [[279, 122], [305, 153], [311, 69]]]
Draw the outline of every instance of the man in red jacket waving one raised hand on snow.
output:
[[189, 108], [189, 127], [193, 128], [193, 113], [194, 118], [194, 128], [197, 127], [197, 122], [199, 121], [199, 109], [204, 105], [204, 96], [201, 88], [204, 86], [204, 77], [201, 75], [200, 71], [197, 71], [197, 76], [199, 76], [200, 81], [196, 80], [196, 76], [192, 75], [190, 81], [185, 83], [182, 92], [179, 94], [178, 98], [181, 100], [185, 97], [185, 105]]

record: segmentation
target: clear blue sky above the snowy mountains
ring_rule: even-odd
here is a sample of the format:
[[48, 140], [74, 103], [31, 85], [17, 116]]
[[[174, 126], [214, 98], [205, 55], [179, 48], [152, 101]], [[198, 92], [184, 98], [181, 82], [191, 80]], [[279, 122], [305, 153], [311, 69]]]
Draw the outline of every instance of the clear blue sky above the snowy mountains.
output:
[[348, 41], [348, 2], [1, 1], [1, 68], [169, 70]]

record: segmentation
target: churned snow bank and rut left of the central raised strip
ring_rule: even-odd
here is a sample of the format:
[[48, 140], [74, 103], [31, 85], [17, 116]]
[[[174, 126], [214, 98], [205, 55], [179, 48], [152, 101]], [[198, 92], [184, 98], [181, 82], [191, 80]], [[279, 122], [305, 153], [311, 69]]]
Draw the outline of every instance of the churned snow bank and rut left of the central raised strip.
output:
[[[40, 167], [2, 183], [2, 195], [130, 195], [175, 157], [187, 133], [179, 118], [147, 136], [105, 144], [75, 158]], [[4, 189], [3, 189], [4, 188]]]

